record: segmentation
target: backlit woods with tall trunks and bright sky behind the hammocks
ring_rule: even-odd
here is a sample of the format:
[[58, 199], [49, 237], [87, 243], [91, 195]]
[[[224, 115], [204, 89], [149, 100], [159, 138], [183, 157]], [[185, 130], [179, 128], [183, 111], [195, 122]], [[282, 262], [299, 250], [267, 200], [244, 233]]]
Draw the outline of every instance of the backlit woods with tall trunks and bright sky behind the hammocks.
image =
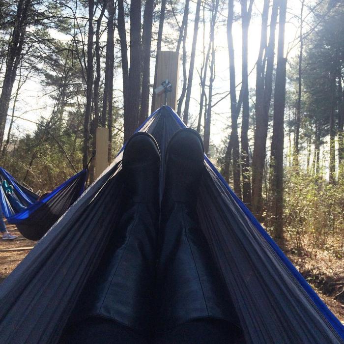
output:
[[290, 254], [344, 254], [340, 0], [0, 1], [1, 166], [50, 190], [109, 163], [149, 115], [157, 51], [180, 54], [175, 111]]

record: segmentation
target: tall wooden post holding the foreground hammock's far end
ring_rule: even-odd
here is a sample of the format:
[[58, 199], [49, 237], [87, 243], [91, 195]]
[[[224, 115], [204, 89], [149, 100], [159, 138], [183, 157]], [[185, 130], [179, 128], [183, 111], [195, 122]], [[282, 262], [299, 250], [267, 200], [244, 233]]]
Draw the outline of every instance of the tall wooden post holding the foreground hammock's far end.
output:
[[[154, 78], [154, 85], [158, 87], [168, 79], [172, 85], [172, 92], [167, 94], [167, 105], [177, 109], [178, 76], [179, 76], [179, 53], [159, 51], [157, 56], [158, 68]], [[165, 105], [165, 92], [153, 96], [153, 109]]]

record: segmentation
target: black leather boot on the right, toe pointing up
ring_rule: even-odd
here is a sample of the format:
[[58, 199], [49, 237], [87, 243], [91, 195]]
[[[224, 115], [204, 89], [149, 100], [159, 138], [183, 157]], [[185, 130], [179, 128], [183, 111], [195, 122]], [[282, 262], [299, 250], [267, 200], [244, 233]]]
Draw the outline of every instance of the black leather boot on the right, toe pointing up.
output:
[[[196, 339], [197, 343], [235, 342], [239, 321], [198, 224], [196, 206], [205, 171], [203, 159], [203, 144], [195, 130], [181, 129], [172, 137], [161, 208], [156, 343], [196, 343]], [[221, 319], [227, 325], [207, 326], [200, 323], [201, 319]], [[204, 341], [198, 342], [202, 328], [207, 336], [204, 332]], [[209, 328], [215, 329], [214, 336]], [[219, 342], [220, 337], [225, 340]]]

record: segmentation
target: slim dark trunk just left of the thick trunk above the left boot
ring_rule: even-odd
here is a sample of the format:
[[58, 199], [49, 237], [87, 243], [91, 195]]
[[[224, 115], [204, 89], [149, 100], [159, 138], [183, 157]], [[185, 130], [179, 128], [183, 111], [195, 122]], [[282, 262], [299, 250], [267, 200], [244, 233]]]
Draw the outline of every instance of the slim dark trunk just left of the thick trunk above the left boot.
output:
[[124, 5], [123, 0], [117, 1], [118, 16], [117, 29], [120, 42], [121, 61], [122, 61], [122, 78], [123, 78], [123, 113], [124, 118], [128, 116], [128, 92], [129, 92], [129, 67], [128, 67], [128, 51], [127, 38], [125, 31]]

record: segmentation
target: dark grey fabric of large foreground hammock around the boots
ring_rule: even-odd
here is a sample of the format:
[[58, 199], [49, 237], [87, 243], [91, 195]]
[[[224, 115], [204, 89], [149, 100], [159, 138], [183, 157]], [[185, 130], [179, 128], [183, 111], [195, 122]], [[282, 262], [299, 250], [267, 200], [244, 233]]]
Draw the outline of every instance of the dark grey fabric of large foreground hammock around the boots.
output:
[[[139, 128], [162, 161], [185, 125], [169, 107]], [[0, 285], [0, 342], [56, 343], [119, 218], [122, 151]], [[344, 343], [344, 326], [204, 158], [197, 211], [247, 343]], [[163, 165], [163, 164], [162, 164]], [[164, 171], [162, 171], [164, 172]]]

